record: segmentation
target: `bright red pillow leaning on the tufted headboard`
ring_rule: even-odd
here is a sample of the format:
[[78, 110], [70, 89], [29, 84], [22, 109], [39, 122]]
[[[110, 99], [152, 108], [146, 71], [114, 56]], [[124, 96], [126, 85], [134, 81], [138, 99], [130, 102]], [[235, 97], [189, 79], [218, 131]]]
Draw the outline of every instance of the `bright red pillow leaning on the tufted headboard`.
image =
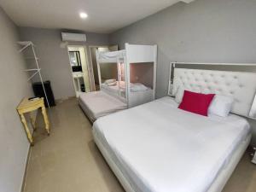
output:
[[201, 94], [184, 90], [183, 101], [178, 108], [191, 113], [208, 116], [208, 108], [215, 94]]

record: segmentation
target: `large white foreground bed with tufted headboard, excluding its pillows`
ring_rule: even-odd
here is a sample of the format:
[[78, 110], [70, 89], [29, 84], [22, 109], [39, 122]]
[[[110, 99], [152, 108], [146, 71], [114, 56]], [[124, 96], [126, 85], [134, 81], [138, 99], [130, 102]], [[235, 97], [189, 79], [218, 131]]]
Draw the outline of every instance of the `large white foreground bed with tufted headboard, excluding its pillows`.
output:
[[255, 73], [175, 70], [169, 93], [190, 86], [230, 94], [232, 113], [204, 117], [166, 96], [97, 119], [94, 141], [127, 192], [220, 192], [250, 143], [241, 116], [252, 106]]

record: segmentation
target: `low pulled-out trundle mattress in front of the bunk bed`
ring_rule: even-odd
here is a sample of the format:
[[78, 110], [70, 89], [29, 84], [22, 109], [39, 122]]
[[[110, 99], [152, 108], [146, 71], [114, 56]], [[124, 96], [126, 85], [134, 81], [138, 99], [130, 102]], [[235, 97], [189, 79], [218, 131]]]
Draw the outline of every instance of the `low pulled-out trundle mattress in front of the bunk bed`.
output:
[[103, 91], [79, 94], [79, 105], [91, 121], [127, 108], [124, 102], [109, 96]]

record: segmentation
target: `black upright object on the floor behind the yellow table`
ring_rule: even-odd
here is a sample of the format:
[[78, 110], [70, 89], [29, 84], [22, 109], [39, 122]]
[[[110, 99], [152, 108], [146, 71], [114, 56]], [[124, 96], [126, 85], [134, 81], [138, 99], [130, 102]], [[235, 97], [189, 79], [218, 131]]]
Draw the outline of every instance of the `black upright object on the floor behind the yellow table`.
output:
[[45, 107], [48, 107], [48, 103], [46, 102], [46, 98], [44, 96], [44, 89], [45, 89], [48, 102], [49, 102], [49, 107], [55, 106], [55, 96], [53, 95], [49, 81], [44, 81], [44, 89], [41, 82], [32, 83], [32, 88], [35, 96], [44, 97], [44, 105]]

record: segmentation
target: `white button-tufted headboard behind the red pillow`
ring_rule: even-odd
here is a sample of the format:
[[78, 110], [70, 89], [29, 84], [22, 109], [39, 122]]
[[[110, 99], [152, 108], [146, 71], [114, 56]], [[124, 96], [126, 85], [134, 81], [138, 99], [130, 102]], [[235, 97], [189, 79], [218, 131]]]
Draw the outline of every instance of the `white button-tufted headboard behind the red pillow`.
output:
[[256, 91], [256, 73], [175, 68], [172, 86], [169, 86], [169, 93], [172, 91], [174, 96], [179, 86], [189, 90], [200, 88], [203, 93], [233, 96], [235, 102], [231, 112], [248, 116]]

